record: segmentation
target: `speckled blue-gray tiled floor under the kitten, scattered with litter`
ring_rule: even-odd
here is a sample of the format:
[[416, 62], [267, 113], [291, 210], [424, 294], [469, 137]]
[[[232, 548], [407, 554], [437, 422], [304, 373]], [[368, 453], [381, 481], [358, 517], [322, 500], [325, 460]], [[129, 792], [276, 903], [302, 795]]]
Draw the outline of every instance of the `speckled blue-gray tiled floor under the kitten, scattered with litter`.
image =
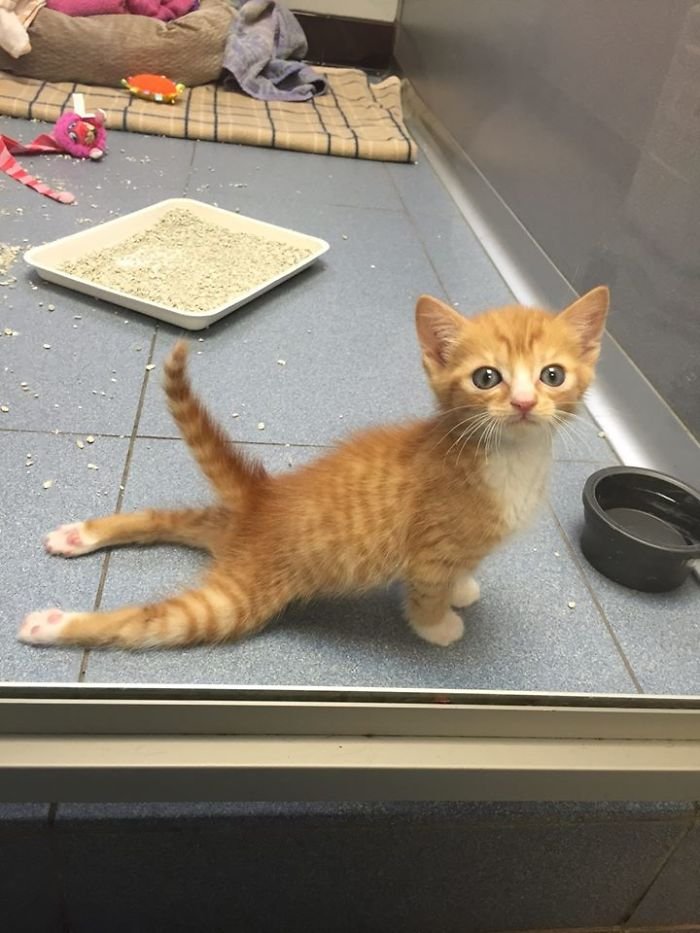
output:
[[[7, 119], [0, 128], [23, 139], [40, 129]], [[413, 330], [419, 293], [465, 313], [509, 300], [424, 161], [384, 165], [116, 132], [110, 142], [103, 163], [32, 160], [46, 181], [78, 195], [76, 207], [3, 178], [0, 239], [25, 247], [188, 194], [331, 244], [316, 266], [193, 338], [198, 389], [273, 469], [290, 469], [350, 429], [429, 410]], [[393, 591], [290, 609], [239, 645], [85, 658], [17, 644], [31, 609], [91, 607], [98, 595], [103, 606], [150, 598], [203, 566], [200, 555], [169, 547], [124, 549], [108, 564], [103, 555], [50, 559], [41, 549], [47, 529], [118, 503], [201, 500], [206, 490], [174, 440], [158, 371], [146, 370], [178, 331], [43, 283], [21, 260], [12, 271], [16, 285], [0, 288], [0, 332], [19, 332], [0, 337], [9, 408], [0, 415], [0, 679], [71, 681], [82, 664], [93, 683], [700, 693], [697, 586], [655, 599], [628, 593], [578, 553], [583, 481], [612, 459], [592, 422], [582, 423], [583, 436], [558, 441], [551, 509], [484, 566], [482, 602], [450, 651], [410, 633]], [[79, 450], [88, 433], [94, 445]], [[47, 479], [54, 484], [43, 489]]]

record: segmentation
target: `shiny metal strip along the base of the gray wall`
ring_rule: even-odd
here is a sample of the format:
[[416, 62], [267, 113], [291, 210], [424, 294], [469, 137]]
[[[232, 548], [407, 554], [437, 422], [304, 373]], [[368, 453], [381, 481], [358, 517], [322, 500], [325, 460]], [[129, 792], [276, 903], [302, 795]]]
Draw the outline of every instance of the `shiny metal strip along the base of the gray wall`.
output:
[[[411, 132], [516, 300], [565, 307], [574, 289], [408, 81], [404, 105]], [[609, 334], [586, 404], [622, 463], [700, 485], [700, 444]]]

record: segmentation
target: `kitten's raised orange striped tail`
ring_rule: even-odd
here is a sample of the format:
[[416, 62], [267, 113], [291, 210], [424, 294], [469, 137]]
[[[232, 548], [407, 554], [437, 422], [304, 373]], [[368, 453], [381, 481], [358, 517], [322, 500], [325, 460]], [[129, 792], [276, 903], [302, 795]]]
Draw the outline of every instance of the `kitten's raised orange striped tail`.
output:
[[187, 344], [180, 340], [165, 360], [165, 394], [182, 437], [201, 471], [222, 501], [241, 509], [253, 490], [267, 479], [261, 463], [236, 450], [192, 392], [187, 375]]

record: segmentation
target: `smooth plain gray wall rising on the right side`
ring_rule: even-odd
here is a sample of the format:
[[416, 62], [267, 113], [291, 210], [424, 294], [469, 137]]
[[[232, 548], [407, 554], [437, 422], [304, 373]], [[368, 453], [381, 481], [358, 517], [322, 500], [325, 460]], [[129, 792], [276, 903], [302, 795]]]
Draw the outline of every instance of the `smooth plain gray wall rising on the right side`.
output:
[[404, 0], [397, 58], [700, 436], [700, 3]]

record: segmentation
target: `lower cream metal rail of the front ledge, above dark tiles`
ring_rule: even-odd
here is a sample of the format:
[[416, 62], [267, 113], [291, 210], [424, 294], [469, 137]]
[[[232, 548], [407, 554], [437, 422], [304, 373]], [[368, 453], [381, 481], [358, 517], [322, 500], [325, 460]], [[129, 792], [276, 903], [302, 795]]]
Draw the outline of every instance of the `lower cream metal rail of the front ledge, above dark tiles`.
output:
[[3, 800], [696, 800], [700, 742], [5, 738]]

